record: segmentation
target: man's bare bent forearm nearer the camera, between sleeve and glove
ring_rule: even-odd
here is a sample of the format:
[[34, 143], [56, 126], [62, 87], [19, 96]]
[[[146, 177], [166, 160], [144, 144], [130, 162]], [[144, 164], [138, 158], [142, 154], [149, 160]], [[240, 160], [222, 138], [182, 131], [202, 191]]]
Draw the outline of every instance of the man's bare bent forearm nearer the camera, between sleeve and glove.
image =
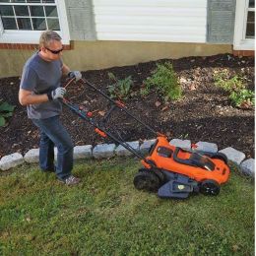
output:
[[33, 95], [31, 91], [20, 89], [19, 101], [22, 105], [37, 104], [48, 101], [49, 98], [44, 95]]

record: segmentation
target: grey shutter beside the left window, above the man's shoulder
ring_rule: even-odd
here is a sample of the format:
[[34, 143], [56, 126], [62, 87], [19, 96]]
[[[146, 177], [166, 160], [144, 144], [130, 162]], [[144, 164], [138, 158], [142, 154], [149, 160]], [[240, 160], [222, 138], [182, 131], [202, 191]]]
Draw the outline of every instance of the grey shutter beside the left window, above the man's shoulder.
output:
[[95, 40], [92, 0], [65, 0], [71, 40]]

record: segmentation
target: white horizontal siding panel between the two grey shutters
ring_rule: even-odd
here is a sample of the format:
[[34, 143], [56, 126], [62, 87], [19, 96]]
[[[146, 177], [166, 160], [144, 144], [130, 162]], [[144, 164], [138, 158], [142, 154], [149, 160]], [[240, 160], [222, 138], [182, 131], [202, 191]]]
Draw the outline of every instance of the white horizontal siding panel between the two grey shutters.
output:
[[98, 40], [205, 42], [206, 0], [94, 0]]

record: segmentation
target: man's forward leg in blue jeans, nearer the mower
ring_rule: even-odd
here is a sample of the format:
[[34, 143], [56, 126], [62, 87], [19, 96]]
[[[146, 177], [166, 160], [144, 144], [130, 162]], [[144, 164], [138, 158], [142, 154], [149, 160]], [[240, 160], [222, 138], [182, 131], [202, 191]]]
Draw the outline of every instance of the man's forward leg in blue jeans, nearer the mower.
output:
[[71, 175], [73, 168], [73, 143], [59, 120], [59, 116], [32, 120], [58, 149], [56, 174], [60, 180]]

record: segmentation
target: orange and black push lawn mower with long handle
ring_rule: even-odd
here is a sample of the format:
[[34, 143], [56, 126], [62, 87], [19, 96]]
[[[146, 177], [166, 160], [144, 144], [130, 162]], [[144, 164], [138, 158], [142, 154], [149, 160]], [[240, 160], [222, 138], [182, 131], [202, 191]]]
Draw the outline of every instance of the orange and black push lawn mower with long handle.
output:
[[[65, 88], [73, 81], [70, 80]], [[184, 199], [192, 193], [199, 192], [211, 196], [220, 193], [221, 184], [227, 181], [230, 172], [224, 154], [198, 152], [194, 146], [187, 150], [170, 145], [167, 136], [156, 132], [152, 127], [130, 113], [126, 105], [120, 100], [114, 100], [107, 96], [85, 79], [77, 83], [89, 86], [90, 89], [106, 98], [110, 103], [108, 111], [100, 121], [96, 121], [93, 112], [86, 110], [84, 106], [74, 104], [66, 98], [63, 98], [63, 104], [93, 125], [96, 133], [101, 137], [110, 138], [111, 141], [123, 146], [141, 160], [143, 167], [139, 169], [133, 180], [136, 189], [157, 192], [160, 198], [177, 199]], [[140, 151], [132, 148], [129, 143], [123, 140], [120, 134], [114, 134], [105, 128], [104, 123], [116, 108], [139, 122], [140, 125], [146, 127], [157, 137], [149, 150], [148, 156], [145, 157]]]

